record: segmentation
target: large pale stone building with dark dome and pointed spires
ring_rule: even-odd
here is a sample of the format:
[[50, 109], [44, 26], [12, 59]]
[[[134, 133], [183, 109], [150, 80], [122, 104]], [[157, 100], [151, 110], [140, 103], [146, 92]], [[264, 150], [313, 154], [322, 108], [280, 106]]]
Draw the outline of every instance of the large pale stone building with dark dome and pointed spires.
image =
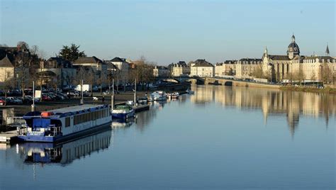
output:
[[329, 47], [325, 50], [325, 56], [300, 55], [300, 48], [294, 35], [287, 47], [287, 55], [269, 55], [267, 48], [262, 56], [262, 71], [264, 77], [272, 82], [289, 81], [323, 81], [335, 80], [336, 60], [329, 55]]

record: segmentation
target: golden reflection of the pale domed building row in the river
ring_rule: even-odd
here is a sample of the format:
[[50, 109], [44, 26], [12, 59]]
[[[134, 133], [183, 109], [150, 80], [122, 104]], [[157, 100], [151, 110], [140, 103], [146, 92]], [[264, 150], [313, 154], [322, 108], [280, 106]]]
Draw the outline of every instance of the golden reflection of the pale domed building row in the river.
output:
[[196, 88], [195, 95], [191, 96], [195, 104], [211, 101], [237, 108], [261, 108], [265, 123], [270, 115], [284, 115], [292, 134], [300, 114], [325, 116], [327, 122], [329, 116], [336, 113], [336, 96], [330, 94], [206, 85]]

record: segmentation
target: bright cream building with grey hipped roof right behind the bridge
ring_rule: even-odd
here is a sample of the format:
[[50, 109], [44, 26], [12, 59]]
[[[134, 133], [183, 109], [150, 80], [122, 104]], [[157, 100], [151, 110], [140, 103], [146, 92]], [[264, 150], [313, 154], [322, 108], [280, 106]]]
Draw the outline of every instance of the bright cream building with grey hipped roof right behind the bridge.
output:
[[195, 62], [191, 62], [191, 77], [213, 77], [214, 74], [213, 65], [206, 60], [196, 60]]

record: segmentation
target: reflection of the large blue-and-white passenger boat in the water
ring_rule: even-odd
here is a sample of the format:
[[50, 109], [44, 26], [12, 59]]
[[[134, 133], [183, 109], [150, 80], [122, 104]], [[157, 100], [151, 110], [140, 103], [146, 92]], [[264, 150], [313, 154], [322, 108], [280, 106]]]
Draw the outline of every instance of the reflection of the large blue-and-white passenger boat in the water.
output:
[[25, 163], [69, 164], [92, 152], [108, 148], [110, 143], [111, 128], [108, 128], [67, 143], [23, 143], [19, 145], [19, 151], [26, 155]]

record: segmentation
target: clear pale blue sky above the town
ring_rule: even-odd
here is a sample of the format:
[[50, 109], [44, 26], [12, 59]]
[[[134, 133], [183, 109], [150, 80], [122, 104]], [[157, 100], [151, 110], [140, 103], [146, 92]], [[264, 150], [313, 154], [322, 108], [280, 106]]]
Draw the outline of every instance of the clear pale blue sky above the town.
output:
[[145, 56], [158, 65], [286, 55], [335, 55], [335, 1], [0, 0], [0, 44], [38, 45], [45, 58], [80, 45], [103, 60]]

